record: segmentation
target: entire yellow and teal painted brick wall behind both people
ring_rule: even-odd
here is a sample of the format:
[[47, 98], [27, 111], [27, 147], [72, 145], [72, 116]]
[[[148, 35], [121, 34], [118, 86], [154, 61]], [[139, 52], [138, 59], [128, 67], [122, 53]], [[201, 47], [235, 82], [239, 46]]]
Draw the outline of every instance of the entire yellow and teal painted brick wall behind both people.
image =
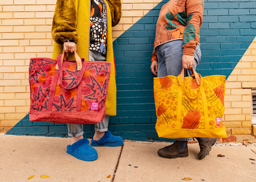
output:
[[[121, 22], [114, 27], [117, 116], [110, 131], [123, 137], [157, 137], [150, 57], [160, 0], [123, 0]], [[30, 122], [30, 57], [51, 57], [55, 1], [0, 0], [0, 133], [65, 135], [66, 126]], [[203, 76], [227, 76], [225, 116], [228, 135], [251, 134], [251, 88], [255, 85], [256, 2], [205, 1], [201, 28]], [[252, 42], [253, 41], [253, 42]], [[250, 47], [249, 47], [250, 46]], [[238, 63], [238, 64], [237, 64]], [[243, 69], [242, 69], [243, 68]], [[85, 126], [88, 135], [92, 126]], [[129, 132], [127, 132], [129, 131]]]

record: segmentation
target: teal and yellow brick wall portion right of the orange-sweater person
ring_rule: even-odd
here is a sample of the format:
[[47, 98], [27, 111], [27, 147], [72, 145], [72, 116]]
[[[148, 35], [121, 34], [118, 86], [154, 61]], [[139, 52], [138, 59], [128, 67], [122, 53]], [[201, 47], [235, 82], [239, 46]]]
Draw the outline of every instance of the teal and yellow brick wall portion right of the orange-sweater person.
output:
[[228, 135], [252, 134], [251, 89], [256, 88], [255, 1], [205, 1], [201, 34], [202, 75], [227, 76]]

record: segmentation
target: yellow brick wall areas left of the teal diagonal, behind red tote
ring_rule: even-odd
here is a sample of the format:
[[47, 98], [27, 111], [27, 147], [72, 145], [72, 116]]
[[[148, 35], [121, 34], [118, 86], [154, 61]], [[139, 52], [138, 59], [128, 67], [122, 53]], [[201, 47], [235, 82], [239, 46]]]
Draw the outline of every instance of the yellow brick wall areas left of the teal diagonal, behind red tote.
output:
[[[52, 16], [56, 0], [0, 0], [0, 133], [29, 111], [31, 57], [52, 57]], [[113, 28], [119, 37], [161, 0], [123, 0], [123, 16]]]

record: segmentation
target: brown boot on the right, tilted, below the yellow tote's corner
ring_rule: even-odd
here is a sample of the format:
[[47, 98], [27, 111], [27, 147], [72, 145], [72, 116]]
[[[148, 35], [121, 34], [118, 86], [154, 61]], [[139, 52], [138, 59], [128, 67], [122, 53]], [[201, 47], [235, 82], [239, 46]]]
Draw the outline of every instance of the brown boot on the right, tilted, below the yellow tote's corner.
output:
[[206, 138], [205, 140], [203, 140], [202, 138], [196, 138], [199, 146], [200, 146], [200, 152], [198, 153], [198, 158], [204, 159], [206, 157], [207, 154], [209, 154], [209, 152], [212, 149], [212, 146], [217, 142], [217, 138]]

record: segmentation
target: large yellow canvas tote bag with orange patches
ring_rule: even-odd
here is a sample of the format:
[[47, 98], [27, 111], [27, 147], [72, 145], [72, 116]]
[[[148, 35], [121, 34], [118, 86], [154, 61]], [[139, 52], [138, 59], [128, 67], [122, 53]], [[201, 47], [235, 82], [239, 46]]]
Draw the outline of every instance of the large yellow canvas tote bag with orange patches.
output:
[[202, 77], [193, 69], [191, 77], [154, 78], [156, 132], [164, 138], [226, 138], [221, 122], [224, 114], [226, 77]]

